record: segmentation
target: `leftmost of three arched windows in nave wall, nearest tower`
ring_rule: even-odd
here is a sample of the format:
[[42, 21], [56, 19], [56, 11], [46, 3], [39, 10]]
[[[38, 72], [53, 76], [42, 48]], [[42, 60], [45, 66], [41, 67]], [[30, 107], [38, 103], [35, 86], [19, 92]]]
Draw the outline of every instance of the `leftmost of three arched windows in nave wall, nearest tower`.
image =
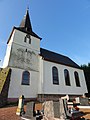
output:
[[53, 84], [59, 85], [58, 69], [55, 66], [52, 67], [52, 77], [53, 77]]

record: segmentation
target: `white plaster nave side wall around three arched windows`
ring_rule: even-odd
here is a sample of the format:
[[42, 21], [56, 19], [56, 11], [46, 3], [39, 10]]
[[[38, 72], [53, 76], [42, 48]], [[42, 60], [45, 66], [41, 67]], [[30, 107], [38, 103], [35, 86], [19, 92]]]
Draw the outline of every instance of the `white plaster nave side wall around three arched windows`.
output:
[[[59, 85], [54, 85], [52, 81], [52, 67], [58, 68]], [[69, 71], [71, 86], [65, 85], [64, 69]], [[76, 87], [74, 72], [79, 74], [81, 87]], [[82, 95], [87, 93], [86, 82], [83, 71], [77, 68], [68, 67], [43, 60], [43, 93], [44, 94], [72, 94]]]

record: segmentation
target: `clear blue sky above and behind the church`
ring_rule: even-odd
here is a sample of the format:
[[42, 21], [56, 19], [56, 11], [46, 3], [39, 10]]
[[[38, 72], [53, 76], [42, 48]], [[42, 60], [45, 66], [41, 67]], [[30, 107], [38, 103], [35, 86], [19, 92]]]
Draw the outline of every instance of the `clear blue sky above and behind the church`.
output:
[[90, 62], [90, 0], [0, 0], [0, 66], [12, 28], [20, 25], [28, 6], [41, 47], [78, 65]]

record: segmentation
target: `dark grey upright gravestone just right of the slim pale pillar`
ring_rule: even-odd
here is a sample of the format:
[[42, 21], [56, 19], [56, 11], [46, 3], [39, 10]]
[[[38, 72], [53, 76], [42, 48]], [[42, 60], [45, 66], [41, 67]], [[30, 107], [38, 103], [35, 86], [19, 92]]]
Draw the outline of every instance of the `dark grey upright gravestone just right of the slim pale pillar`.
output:
[[26, 113], [22, 116], [22, 118], [30, 119], [30, 120], [36, 120], [34, 117], [34, 109], [35, 109], [35, 103], [29, 102], [26, 105]]

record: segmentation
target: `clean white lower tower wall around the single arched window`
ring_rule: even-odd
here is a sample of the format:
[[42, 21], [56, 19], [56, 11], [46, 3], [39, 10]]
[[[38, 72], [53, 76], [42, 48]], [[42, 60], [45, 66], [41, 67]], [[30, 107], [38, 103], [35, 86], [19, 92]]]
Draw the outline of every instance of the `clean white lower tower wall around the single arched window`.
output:
[[11, 68], [11, 81], [8, 98], [18, 98], [24, 95], [25, 98], [36, 98], [38, 93], [39, 72], [30, 72], [30, 85], [21, 85], [23, 69]]

